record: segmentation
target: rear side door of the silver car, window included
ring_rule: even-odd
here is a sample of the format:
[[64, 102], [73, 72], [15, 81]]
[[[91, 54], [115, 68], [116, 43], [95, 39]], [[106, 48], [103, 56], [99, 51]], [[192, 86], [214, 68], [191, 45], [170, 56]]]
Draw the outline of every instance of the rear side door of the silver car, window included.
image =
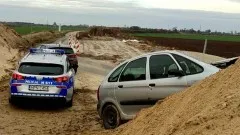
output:
[[139, 58], [128, 63], [115, 88], [115, 96], [123, 113], [134, 115], [148, 106], [148, 83], [146, 82], [147, 58]]

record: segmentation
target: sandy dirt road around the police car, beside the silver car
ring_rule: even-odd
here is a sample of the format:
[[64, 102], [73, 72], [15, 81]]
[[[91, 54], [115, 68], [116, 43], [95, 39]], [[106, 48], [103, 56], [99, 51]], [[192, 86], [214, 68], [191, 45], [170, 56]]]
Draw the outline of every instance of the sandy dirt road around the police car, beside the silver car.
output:
[[[58, 40], [66, 42], [66, 37]], [[96, 90], [113, 68], [110, 62], [79, 58], [73, 107], [48, 102], [8, 103], [8, 84], [0, 88], [0, 134], [88, 134], [102, 130], [96, 111]]]

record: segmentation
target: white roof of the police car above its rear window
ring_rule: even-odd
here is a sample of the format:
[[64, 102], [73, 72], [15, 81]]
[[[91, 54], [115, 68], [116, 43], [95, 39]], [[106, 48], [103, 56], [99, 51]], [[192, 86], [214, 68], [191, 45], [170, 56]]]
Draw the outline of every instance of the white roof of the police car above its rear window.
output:
[[46, 54], [46, 53], [28, 53], [22, 60], [21, 63], [48, 63], [48, 64], [59, 64], [64, 65], [67, 56], [65, 54]]

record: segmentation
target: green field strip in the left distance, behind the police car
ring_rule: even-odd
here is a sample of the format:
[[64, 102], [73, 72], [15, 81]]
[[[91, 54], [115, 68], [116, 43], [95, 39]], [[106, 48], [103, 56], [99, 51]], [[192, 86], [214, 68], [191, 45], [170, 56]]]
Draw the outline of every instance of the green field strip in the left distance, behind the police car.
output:
[[[12, 27], [20, 35], [26, 35], [41, 31], [58, 31], [58, 27], [53, 26], [13, 26]], [[77, 27], [77, 26], [63, 26], [62, 30], [78, 31], [86, 30], [87, 28]]]

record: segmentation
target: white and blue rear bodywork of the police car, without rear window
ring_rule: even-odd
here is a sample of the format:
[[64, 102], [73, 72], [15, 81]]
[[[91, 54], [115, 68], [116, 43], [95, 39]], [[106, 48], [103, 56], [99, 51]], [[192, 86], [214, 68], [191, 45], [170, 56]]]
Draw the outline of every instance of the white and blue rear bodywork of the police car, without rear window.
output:
[[[51, 59], [51, 63], [48, 60]], [[69, 69], [66, 55], [58, 54], [27, 54], [20, 62], [34, 63], [34, 64], [59, 64], [62, 65], [64, 70], [61, 75], [34, 75], [20, 73], [18, 70], [14, 74], [23, 76], [24, 79], [10, 79], [10, 98], [64, 98], [70, 101], [74, 89], [74, 76], [73, 69]], [[55, 79], [59, 77], [67, 77], [66, 82], [57, 82]], [[33, 90], [30, 87], [39, 87], [41, 89]], [[47, 88], [43, 90], [43, 88]]]

